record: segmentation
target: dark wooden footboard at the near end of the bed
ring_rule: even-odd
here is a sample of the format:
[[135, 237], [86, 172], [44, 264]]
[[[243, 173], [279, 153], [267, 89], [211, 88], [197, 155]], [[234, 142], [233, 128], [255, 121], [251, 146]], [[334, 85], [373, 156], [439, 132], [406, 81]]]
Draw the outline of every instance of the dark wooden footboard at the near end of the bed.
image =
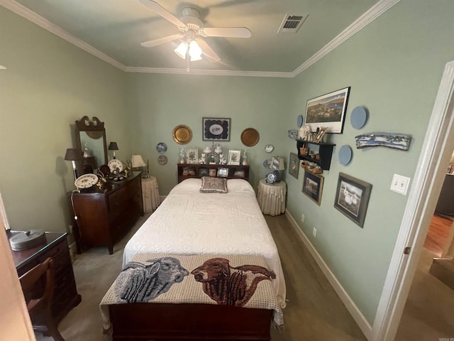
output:
[[271, 340], [272, 310], [228, 305], [109, 305], [114, 341]]

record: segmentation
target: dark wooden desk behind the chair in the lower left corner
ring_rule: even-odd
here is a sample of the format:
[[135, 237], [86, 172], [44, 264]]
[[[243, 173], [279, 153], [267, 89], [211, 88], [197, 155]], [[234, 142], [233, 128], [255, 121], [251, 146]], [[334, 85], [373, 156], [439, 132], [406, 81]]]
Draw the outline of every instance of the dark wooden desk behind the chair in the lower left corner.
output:
[[[59, 322], [81, 301], [77, 293], [74, 272], [72, 271], [70, 249], [66, 233], [45, 232], [46, 244], [23, 251], [13, 251], [13, 260], [18, 276], [22, 276], [34, 266], [52, 257], [55, 264], [55, 287], [52, 298], [52, 315]], [[39, 284], [37, 285], [39, 286]], [[43, 290], [38, 288], [37, 290]]]

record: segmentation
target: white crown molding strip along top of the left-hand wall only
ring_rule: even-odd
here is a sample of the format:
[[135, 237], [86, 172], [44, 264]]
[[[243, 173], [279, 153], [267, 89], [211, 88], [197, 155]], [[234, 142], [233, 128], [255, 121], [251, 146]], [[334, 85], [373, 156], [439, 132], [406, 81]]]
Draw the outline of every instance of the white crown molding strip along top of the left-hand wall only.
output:
[[26, 8], [18, 2], [13, 0], [0, 0], [0, 5], [4, 6], [6, 9], [13, 11], [14, 13], [26, 18], [28, 21], [35, 23], [36, 25], [44, 28], [45, 30], [49, 31], [50, 33], [54, 33], [55, 36], [59, 36], [62, 39], [67, 40], [67, 42], [76, 45], [78, 48], [94, 55], [95, 57], [104, 60], [104, 62], [114, 65], [114, 67], [118, 67], [118, 69], [126, 71], [126, 66], [118, 63], [114, 58], [109, 57], [106, 53], [97, 50], [92, 45], [85, 43], [83, 40], [80, 40], [77, 37], [72, 36], [72, 34], [68, 33], [67, 31], [63, 30], [60, 26], [55, 25], [55, 23], [51, 23], [47, 19], [39, 16], [37, 13], [31, 11], [30, 9]]

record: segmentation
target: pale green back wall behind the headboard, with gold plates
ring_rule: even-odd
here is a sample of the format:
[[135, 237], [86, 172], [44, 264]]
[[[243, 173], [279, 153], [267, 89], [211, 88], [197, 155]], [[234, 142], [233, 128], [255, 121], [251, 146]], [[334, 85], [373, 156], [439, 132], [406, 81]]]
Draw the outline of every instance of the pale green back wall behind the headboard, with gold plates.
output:
[[[263, 161], [281, 154], [287, 137], [287, 127], [294, 128], [296, 118], [290, 117], [288, 107], [291, 96], [289, 82], [282, 78], [216, 77], [197, 75], [128, 75], [128, 117], [133, 125], [133, 153], [150, 160], [151, 175], [158, 179], [160, 195], [167, 195], [177, 184], [179, 148], [199, 148], [199, 156], [211, 141], [202, 140], [202, 117], [231, 119], [231, 141], [221, 143], [225, 156], [228, 150], [247, 148], [250, 163], [250, 182], [253, 185], [263, 178], [267, 170]], [[192, 130], [192, 141], [177, 144], [172, 138], [175, 126], [185, 124]], [[260, 141], [245, 147], [240, 141], [241, 132], [253, 127]], [[156, 145], [167, 144], [168, 163], [160, 166]], [[273, 144], [272, 153], [265, 145]], [[296, 151], [296, 146], [294, 146]]]

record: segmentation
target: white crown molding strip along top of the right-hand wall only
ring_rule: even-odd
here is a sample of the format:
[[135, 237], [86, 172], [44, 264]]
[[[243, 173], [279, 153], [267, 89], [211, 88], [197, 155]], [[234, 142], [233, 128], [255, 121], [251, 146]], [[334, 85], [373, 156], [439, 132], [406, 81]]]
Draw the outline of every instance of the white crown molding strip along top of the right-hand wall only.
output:
[[297, 67], [292, 72], [292, 77], [296, 77], [301, 72], [306, 70], [308, 67], [313, 65], [314, 63], [318, 62], [323, 58], [325, 55], [330, 53], [332, 50], [341, 45], [345, 40], [353, 36], [355, 33], [360, 31], [362, 28], [367, 26], [369, 23], [374, 21], [376, 18], [381, 16], [384, 12], [390, 9], [392, 6], [397, 4], [400, 0], [381, 0], [377, 2], [374, 6], [372, 6], [368, 11], [366, 11], [362, 16], [356, 19], [348, 28], [345, 28], [341, 33], [336, 36], [333, 40], [331, 40], [328, 44], [323, 46], [319, 52], [313, 55], [311, 58], [306, 60], [303, 64]]

